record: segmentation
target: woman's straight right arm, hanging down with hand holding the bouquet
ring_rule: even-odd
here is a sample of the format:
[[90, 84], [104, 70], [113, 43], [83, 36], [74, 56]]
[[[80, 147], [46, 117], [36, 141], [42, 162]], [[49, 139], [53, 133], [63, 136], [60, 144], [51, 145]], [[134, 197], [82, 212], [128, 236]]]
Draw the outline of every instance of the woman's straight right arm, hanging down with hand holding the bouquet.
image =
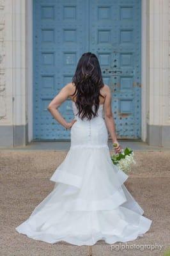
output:
[[108, 85], [105, 84], [105, 102], [104, 102], [104, 118], [107, 129], [109, 130], [112, 138], [112, 143], [117, 143], [118, 147], [114, 148], [114, 150], [119, 153], [121, 152], [120, 144], [116, 138], [116, 127], [114, 123], [114, 118], [112, 115], [112, 95], [111, 90]]

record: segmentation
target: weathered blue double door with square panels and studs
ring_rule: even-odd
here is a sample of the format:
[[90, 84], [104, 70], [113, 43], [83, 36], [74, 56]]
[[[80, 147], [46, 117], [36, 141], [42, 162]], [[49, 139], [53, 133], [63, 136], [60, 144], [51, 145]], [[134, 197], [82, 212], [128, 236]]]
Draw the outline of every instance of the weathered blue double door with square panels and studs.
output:
[[[141, 0], [35, 0], [33, 12], [34, 139], [70, 139], [47, 106], [88, 51], [111, 88], [118, 138], [141, 138]], [[70, 122], [71, 100], [59, 111]]]

